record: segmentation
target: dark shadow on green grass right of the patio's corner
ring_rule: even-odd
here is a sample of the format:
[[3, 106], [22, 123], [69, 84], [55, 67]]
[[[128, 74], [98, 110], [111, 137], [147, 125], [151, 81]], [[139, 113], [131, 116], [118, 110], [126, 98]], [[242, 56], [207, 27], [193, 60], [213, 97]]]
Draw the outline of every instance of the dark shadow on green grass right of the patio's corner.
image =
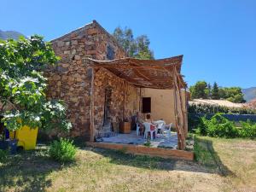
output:
[[199, 164], [218, 170], [218, 174], [221, 176], [236, 177], [236, 174], [231, 172], [230, 169], [222, 163], [210, 139], [195, 137], [194, 152], [195, 160]]

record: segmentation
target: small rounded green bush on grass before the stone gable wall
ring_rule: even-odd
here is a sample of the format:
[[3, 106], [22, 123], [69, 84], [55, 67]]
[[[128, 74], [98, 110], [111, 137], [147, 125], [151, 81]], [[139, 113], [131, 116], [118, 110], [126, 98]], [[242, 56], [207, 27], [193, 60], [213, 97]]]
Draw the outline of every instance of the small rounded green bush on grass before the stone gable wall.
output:
[[49, 156], [59, 162], [70, 162], [75, 158], [77, 148], [73, 141], [61, 138], [60, 141], [54, 141], [49, 148]]

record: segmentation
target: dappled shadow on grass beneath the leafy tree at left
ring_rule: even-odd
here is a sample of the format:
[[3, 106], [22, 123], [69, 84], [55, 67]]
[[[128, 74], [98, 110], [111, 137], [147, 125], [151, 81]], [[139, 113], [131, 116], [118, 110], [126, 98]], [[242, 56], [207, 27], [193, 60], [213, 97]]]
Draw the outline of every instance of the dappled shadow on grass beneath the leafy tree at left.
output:
[[0, 191], [45, 191], [51, 186], [51, 179], [47, 178], [49, 173], [62, 167], [60, 163], [49, 159], [46, 149], [10, 155], [8, 160], [0, 164]]

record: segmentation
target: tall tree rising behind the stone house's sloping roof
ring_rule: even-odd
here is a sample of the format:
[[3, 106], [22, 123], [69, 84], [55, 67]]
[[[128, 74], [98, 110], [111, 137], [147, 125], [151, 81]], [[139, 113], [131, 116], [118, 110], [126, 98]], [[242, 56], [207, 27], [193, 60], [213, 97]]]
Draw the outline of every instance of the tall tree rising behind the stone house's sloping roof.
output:
[[130, 28], [122, 29], [116, 27], [113, 31], [113, 37], [125, 49], [128, 56], [138, 59], [154, 59], [154, 53], [149, 49], [150, 41], [148, 36], [141, 35], [134, 38]]

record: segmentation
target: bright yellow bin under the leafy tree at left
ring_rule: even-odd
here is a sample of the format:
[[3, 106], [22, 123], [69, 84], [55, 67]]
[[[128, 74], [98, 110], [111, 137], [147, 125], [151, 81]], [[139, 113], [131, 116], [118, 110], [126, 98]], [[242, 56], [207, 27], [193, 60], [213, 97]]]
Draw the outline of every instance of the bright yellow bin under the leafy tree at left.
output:
[[17, 131], [11, 131], [9, 136], [18, 139], [18, 147], [22, 147], [25, 150], [35, 149], [37, 145], [38, 128], [32, 129], [24, 125]]

